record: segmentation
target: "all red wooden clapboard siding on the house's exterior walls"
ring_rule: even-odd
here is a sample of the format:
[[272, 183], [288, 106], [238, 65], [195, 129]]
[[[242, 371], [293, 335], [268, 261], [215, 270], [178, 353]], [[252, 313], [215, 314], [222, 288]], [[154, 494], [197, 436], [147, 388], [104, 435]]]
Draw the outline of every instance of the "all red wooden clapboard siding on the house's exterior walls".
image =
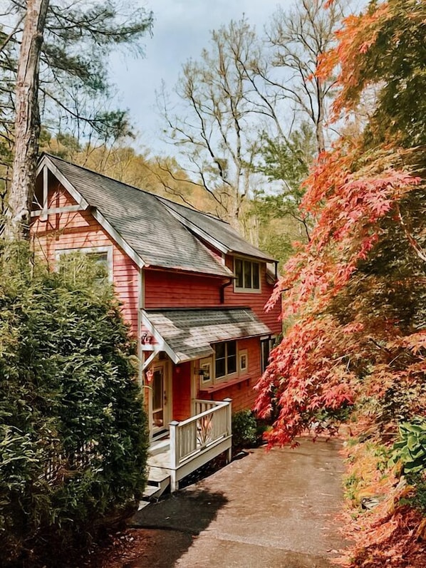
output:
[[[48, 207], [66, 207], [76, 205], [59, 182], [53, 182], [48, 192]], [[95, 220], [90, 211], [63, 212], [50, 214], [47, 220], [36, 217], [31, 226], [34, 247], [46, 258], [51, 267], [56, 262], [56, 252], [63, 249], [80, 249], [93, 247], [112, 247], [113, 249], [113, 282], [118, 298], [123, 303], [123, 316], [130, 324], [134, 336], [138, 330], [139, 311], [139, 269], [132, 259], [108, 235]], [[214, 251], [212, 251], [212, 254]], [[217, 254], [218, 259], [222, 258]], [[227, 267], [232, 271], [232, 257], [225, 259]], [[266, 282], [266, 266], [261, 264], [260, 293], [239, 293], [234, 291], [233, 284], [224, 288], [224, 304], [221, 302], [221, 288], [227, 284], [227, 277], [208, 277], [202, 274], [185, 274], [166, 270], [145, 269], [144, 293], [145, 307], [155, 308], [200, 308], [200, 307], [232, 307], [250, 306], [261, 321], [264, 321], [274, 333], [281, 331], [279, 322], [279, 306], [266, 314], [264, 305], [269, 299], [273, 286]], [[233, 411], [251, 408], [256, 399], [253, 390], [261, 375], [261, 353], [259, 338], [238, 341], [238, 348], [246, 349], [248, 354], [248, 370], [238, 382], [230, 385], [217, 383], [209, 391], [199, 391], [199, 384], [194, 389], [196, 398], [221, 401], [232, 398]], [[191, 363], [182, 363], [173, 367], [172, 371], [172, 418], [185, 420], [192, 414], [193, 381]], [[229, 381], [231, 382], [231, 381]], [[220, 388], [218, 387], [220, 384]], [[148, 398], [148, 397], [147, 397]]]

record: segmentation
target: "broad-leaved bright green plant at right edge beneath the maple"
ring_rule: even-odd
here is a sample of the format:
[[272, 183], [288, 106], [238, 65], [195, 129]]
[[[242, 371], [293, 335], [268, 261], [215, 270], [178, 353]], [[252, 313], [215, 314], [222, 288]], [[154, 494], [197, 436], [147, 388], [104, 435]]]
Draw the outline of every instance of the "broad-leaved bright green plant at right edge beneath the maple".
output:
[[400, 462], [404, 473], [420, 473], [426, 468], [426, 419], [417, 417], [399, 426], [390, 463]]

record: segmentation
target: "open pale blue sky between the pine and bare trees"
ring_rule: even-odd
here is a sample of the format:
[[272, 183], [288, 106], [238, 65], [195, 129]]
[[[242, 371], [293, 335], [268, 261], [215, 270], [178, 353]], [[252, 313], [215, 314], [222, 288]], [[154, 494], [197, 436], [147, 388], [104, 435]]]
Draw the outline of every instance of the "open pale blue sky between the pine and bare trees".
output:
[[[291, 6], [282, 0], [281, 6]], [[111, 56], [110, 76], [118, 88], [116, 103], [130, 110], [137, 130], [137, 142], [155, 153], [167, 153], [160, 141], [161, 124], [155, 91], [162, 80], [171, 91], [180, 68], [188, 58], [198, 58], [209, 43], [209, 31], [246, 15], [261, 32], [277, 0], [147, 0], [145, 7], [154, 12], [152, 38], [145, 40], [145, 58], [123, 53]]]

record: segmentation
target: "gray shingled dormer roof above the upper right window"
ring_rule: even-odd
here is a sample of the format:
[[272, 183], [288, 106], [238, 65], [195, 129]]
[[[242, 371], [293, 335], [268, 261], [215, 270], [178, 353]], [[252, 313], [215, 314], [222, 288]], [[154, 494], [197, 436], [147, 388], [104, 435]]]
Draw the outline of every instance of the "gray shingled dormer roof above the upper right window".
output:
[[[189, 207], [179, 203], [166, 200], [164, 197], [160, 197], [160, 200], [166, 207], [182, 217], [182, 222], [187, 222], [189, 229], [201, 229], [202, 233], [213, 237], [217, 242], [221, 243], [227, 249], [227, 252], [237, 252], [269, 262], [275, 261], [274, 257], [247, 242], [229, 223], [222, 221], [219, 217], [189, 209]], [[198, 232], [198, 234], [202, 233]]]

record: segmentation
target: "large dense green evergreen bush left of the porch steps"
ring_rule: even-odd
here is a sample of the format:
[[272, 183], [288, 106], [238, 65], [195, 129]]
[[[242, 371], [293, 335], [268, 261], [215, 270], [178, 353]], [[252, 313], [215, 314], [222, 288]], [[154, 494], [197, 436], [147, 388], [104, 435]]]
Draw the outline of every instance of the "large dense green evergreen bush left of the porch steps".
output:
[[81, 258], [56, 273], [29, 261], [0, 251], [1, 565], [84, 542], [145, 487], [147, 423], [112, 286]]

